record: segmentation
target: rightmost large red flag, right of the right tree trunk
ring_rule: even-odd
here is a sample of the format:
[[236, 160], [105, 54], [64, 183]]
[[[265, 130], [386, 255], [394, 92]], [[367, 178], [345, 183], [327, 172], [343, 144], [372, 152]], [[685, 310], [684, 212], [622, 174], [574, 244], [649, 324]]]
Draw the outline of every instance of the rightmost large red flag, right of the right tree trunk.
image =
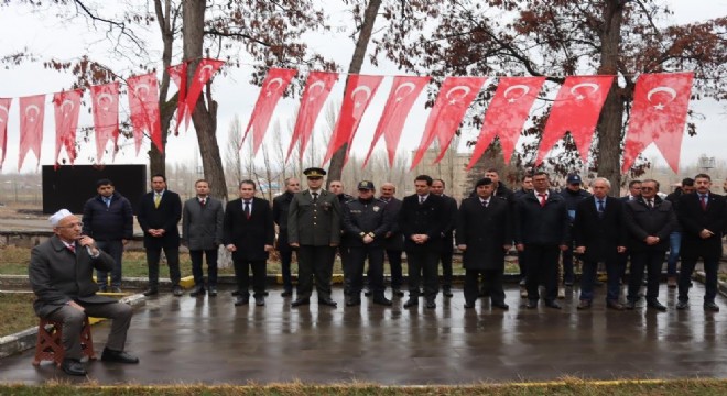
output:
[[621, 167], [623, 173], [651, 142], [661, 150], [674, 173], [679, 173], [693, 79], [692, 72], [639, 76], [633, 88], [631, 119], [626, 133]]

